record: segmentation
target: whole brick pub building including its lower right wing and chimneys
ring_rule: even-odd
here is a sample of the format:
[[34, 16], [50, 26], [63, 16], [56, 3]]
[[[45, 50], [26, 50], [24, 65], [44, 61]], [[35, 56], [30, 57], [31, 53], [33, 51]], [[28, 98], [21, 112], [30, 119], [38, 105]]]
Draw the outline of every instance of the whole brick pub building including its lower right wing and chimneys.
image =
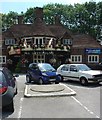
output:
[[[14, 72], [24, 70], [32, 62], [50, 63], [55, 68], [63, 63], [85, 63], [90, 67], [102, 62], [102, 45], [88, 34], [72, 33], [55, 16], [54, 24], [45, 24], [43, 8], [35, 8], [33, 24], [18, 24], [3, 32], [0, 64]], [[96, 67], [94, 67], [96, 69]]]

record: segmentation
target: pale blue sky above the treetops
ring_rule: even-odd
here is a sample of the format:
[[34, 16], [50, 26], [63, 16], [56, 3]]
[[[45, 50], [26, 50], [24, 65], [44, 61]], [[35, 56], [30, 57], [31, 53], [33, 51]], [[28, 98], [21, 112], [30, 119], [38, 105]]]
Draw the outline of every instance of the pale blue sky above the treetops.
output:
[[10, 11], [14, 11], [20, 14], [21, 12], [26, 12], [28, 8], [43, 7], [50, 3], [74, 5], [76, 3], [82, 4], [89, 1], [98, 3], [101, 0], [0, 0], [0, 13], [7, 14]]

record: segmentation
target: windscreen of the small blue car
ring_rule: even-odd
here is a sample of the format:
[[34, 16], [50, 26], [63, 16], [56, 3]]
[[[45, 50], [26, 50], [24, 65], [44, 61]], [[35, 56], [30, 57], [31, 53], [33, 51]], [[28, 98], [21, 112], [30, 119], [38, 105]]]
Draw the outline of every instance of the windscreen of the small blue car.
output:
[[42, 72], [47, 72], [47, 71], [54, 72], [54, 71], [56, 71], [50, 64], [38, 64], [38, 66]]

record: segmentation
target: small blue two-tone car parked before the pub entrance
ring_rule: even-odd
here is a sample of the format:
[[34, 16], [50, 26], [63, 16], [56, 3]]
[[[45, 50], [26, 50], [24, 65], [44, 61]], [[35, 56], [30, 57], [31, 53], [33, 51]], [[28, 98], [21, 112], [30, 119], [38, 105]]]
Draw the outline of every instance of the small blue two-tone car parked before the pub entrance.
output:
[[38, 84], [48, 84], [55, 82], [58, 84], [61, 81], [61, 76], [48, 63], [31, 63], [26, 74], [26, 82], [34, 81]]

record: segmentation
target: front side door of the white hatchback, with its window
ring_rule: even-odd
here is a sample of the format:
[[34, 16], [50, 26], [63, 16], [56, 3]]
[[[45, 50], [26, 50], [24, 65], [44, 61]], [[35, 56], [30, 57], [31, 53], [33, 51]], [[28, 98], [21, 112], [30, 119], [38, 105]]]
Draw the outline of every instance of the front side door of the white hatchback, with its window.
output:
[[79, 81], [79, 73], [76, 65], [70, 65], [69, 67], [69, 79]]

